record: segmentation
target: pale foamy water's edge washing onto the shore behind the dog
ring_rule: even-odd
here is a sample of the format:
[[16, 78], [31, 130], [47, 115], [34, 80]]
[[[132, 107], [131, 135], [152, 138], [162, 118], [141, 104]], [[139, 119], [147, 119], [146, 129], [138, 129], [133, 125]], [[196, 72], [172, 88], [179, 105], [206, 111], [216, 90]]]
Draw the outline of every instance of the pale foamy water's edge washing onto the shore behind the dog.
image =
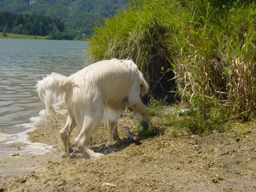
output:
[[[63, 103], [58, 99], [54, 104], [56, 111]], [[15, 174], [20, 175], [26, 172], [33, 172], [47, 161], [59, 161], [54, 154], [54, 145], [46, 144], [43, 140], [35, 142], [30, 135], [39, 129], [40, 122], [45, 116], [45, 109], [38, 113], [38, 116], [30, 118], [30, 123], [18, 124], [17, 127], [26, 127], [25, 131], [15, 134], [0, 133], [0, 179], [3, 176]], [[58, 159], [58, 160], [56, 160]], [[0, 184], [1, 189], [1, 184]]]

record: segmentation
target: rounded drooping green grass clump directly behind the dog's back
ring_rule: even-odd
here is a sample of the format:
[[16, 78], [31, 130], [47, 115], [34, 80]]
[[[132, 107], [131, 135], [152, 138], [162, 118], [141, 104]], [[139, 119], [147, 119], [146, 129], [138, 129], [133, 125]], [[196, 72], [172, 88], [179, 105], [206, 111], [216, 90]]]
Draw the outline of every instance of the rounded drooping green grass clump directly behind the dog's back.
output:
[[[174, 50], [174, 35], [184, 22], [184, 10], [176, 0], [143, 1], [137, 9], [119, 11], [95, 27], [89, 40], [93, 61], [130, 58], [135, 61], [149, 81], [154, 96], [171, 97], [174, 89], [170, 61]], [[170, 99], [170, 97], [168, 99]]]

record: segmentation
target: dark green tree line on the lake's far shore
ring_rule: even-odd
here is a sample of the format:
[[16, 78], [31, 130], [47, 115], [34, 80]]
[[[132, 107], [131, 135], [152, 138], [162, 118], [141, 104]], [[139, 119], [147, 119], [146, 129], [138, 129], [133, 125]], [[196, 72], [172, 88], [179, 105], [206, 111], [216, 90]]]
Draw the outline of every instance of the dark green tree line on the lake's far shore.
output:
[[0, 11], [0, 32], [47, 36], [47, 39], [82, 39], [80, 31], [72, 30], [64, 22], [48, 16], [13, 14]]

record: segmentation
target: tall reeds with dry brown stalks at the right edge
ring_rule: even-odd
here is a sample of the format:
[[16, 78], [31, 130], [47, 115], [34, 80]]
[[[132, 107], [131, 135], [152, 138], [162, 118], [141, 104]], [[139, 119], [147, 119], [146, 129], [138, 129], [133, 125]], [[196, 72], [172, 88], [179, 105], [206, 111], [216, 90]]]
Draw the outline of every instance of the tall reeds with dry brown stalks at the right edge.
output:
[[[191, 9], [174, 62], [181, 103], [197, 107], [212, 127], [235, 115], [254, 116], [256, 105], [256, 4], [232, 9]], [[211, 125], [209, 124], [209, 127]]]

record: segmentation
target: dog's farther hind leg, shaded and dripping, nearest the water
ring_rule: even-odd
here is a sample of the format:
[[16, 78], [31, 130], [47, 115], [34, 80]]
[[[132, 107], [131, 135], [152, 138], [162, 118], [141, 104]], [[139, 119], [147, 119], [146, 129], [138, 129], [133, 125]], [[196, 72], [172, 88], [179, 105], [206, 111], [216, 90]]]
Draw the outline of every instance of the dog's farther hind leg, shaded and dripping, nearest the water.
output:
[[69, 141], [69, 136], [75, 126], [76, 126], [76, 122], [75, 122], [74, 118], [68, 116], [65, 126], [59, 131], [59, 135], [63, 142], [64, 151], [67, 151], [67, 152], [72, 151], [72, 146]]

